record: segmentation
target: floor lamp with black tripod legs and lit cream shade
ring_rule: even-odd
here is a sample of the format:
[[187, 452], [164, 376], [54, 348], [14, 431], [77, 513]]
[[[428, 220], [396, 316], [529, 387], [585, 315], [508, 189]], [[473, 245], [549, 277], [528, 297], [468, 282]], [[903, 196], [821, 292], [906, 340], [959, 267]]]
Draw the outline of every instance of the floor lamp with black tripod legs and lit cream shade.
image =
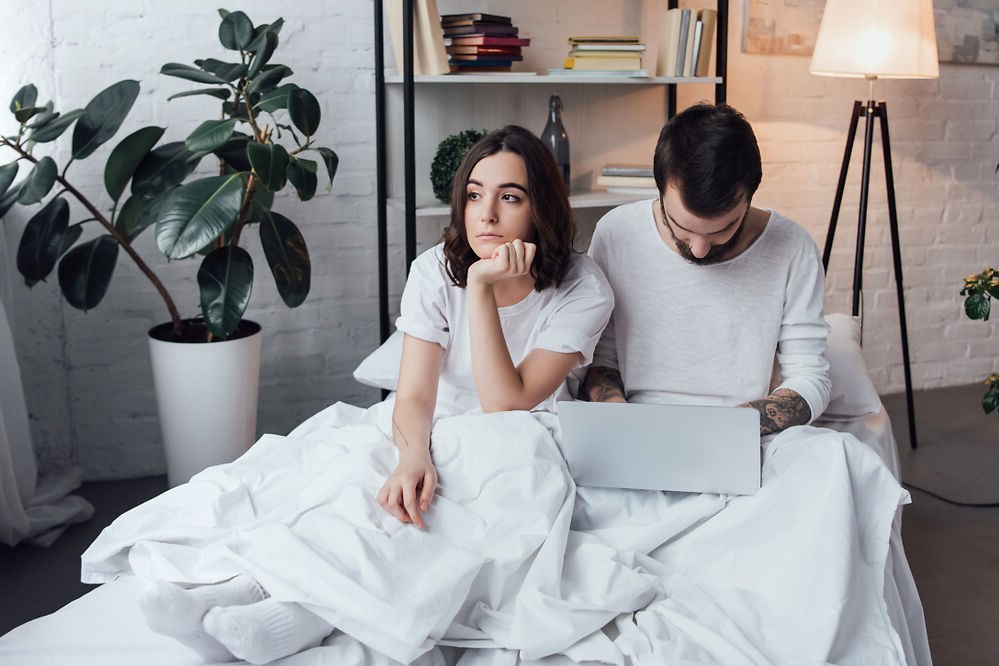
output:
[[884, 151], [885, 185], [888, 194], [888, 222], [891, 231], [895, 291], [898, 296], [899, 327], [902, 334], [902, 363], [905, 371], [905, 402], [909, 417], [909, 438], [916, 448], [916, 419], [912, 404], [912, 374], [909, 366], [909, 336], [905, 323], [905, 298], [902, 290], [902, 261], [899, 252], [898, 214], [895, 207], [895, 179], [891, 168], [891, 143], [888, 138], [888, 107], [874, 101], [876, 79], [935, 79], [937, 64], [936, 34], [933, 26], [932, 0], [827, 0], [819, 36], [812, 54], [811, 73], [822, 76], [863, 78], [869, 82], [866, 102], [855, 101], [850, 116], [846, 150], [840, 167], [833, 201], [832, 216], [826, 232], [822, 266], [829, 267], [833, 237], [846, 174], [853, 152], [853, 141], [861, 118], [864, 119], [864, 155], [860, 176], [860, 211], [857, 221], [857, 245], [853, 264], [853, 314], [860, 314], [863, 291], [864, 241], [867, 232], [867, 202], [871, 184], [871, 151], [874, 125], [880, 123]]

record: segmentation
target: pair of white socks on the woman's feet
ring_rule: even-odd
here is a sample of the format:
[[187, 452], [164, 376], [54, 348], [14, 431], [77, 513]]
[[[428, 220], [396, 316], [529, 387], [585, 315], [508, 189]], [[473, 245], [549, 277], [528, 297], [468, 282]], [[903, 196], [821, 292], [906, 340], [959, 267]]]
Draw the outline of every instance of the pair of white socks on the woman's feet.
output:
[[276, 601], [248, 576], [183, 588], [153, 581], [139, 590], [149, 628], [207, 662], [266, 664], [315, 647], [332, 625], [296, 603]]

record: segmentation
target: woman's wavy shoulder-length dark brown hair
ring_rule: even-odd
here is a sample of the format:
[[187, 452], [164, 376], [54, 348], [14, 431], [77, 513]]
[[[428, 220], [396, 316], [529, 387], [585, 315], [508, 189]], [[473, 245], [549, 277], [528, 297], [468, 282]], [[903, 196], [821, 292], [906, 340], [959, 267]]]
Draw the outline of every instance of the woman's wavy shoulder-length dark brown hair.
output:
[[468, 244], [465, 230], [466, 186], [472, 169], [484, 157], [500, 152], [519, 155], [527, 169], [527, 195], [537, 252], [531, 264], [534, 288], [541, 291], [562, 283], [569, 270], [575, 223], [562, 172], [552, 151], [523, 127], [507, 125], [490, 132], [469, 149], [458, 165], [451, 185], [451, 222], [444, 230], [445, 269], [459, 287], [468, 283], [468, 268], [479, 257]]

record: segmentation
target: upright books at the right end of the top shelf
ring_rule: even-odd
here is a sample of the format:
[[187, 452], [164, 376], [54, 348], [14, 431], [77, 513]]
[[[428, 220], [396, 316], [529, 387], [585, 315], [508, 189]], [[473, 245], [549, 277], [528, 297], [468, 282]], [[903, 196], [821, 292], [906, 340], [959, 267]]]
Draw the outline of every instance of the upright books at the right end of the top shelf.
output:
[[656, 76], [708, 76], [718, 12], [669, 9], [663, 15]]

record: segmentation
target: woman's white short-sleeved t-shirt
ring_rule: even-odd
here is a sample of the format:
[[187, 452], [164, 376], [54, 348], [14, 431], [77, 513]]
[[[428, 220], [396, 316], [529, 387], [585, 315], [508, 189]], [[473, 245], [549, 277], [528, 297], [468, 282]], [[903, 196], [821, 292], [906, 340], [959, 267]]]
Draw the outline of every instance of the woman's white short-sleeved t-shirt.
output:
[[[444, 246], [437, 245], [413, 261], [403, 290], [396, 327], [444, 349], [437, 417], [480, 411], [472, 377], [468, 332], [468, 292], [455, 286], [444, 269]], [[500, 325], [514, 365], [532, 349], [578, 352], [586, 365], [610, 318], [614, 295], [592, 259], [572, 255], [562, 284], [499, 308]], [[552, 410], [555, 400], [569, 397], [565, 382], [537, 409]]]

